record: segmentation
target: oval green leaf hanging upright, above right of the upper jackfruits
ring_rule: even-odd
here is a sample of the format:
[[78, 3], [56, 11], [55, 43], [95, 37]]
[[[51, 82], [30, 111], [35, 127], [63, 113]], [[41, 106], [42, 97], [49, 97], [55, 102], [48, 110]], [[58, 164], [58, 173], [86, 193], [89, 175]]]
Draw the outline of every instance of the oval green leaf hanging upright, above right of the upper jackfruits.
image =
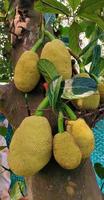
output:
[[74, 51], [75, 54], [81, 52], [79, 46], [79, 34], [82, 31], [80, 25], [74, 22], [69, 28], [69, 47]]

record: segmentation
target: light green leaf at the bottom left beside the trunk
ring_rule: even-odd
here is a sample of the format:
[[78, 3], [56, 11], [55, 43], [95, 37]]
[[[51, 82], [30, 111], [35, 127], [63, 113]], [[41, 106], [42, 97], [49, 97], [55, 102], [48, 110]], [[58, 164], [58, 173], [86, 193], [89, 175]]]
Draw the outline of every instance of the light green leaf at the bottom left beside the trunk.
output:
[[[10, 199], [11, 200], [16, 200], [16, 199], [20, 199], [23, 197], [23, 194], [25, 193], [25, 184], [17, 181], [13, 187], [10, 189]], [[22, 191], [22, 193], [21, 193]]]

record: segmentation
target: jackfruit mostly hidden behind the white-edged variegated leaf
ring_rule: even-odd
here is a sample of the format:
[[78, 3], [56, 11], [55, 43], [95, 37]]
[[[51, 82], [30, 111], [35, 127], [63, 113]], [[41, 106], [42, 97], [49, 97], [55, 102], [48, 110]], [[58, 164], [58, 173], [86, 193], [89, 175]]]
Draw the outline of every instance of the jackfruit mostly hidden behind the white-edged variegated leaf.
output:
[[[90, 77], [87, 73], [80, 73], [77, 75], [77, 77]], [[79, 98], [75, 99], [72, 101], [76, 107], [78, 107], [81, 110], [94, 110], [98, 108], [100, 104], [100, 94], [99, 91], [97, 90], [94, 94], [84, 97], [84, 98]]]

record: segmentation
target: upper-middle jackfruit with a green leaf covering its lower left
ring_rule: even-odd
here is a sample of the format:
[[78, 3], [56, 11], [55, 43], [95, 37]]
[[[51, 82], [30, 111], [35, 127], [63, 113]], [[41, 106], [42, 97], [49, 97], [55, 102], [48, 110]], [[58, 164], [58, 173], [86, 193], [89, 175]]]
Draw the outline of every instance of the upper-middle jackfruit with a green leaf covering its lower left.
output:
[[51, 42], [47, 42], [42, 49], [41, 58], [51, 61], [64, 80], [71, 78], [71, 56], [61, 40], [54, 39]]

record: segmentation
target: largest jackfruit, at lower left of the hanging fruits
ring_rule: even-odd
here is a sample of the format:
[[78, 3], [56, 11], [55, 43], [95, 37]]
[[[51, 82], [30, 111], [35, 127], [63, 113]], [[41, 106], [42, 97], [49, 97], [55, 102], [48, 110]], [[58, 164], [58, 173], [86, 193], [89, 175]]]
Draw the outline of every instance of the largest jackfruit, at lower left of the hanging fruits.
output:
[[45, 117], [26, 117], [15, 131], [8, 155], [10, 169], [20, 176], [32, 176], [50, 160], [52, 133]]

